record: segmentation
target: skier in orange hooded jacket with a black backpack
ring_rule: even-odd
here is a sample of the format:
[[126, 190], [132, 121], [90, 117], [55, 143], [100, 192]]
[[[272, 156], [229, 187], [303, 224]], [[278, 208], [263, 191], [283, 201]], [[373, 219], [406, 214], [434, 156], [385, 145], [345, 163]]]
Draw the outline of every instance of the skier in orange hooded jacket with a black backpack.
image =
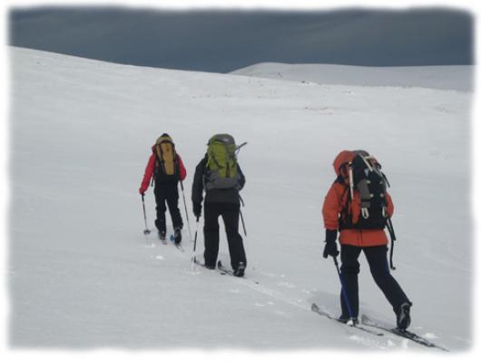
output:
[[[360, 154], [360, 155], [359, 155]], [[358, 157], [358, 158], [356, 158]], [[361, 158], [359, 158], [361, 157]], [[364, 159], [362, 158], [364, 157]], [[354, 166], [363, 161], [370, 161], [366, 168], [372, 171], [352, 173]], [[346, 295], [341, 292], [341, 320], [348, 322], [358, 318], [358, 257], [361, 251], [368, 259], [369, 268], [378, 287], [382, 290], [397, 316], [398, 328], [406, 329], [410, 324], [410, 307], [412, 303], [389, 272], [388, 267], [388, 238], [384, 231], [386, 221], [393, 215], [394, 205], [386, 186], [373, 190], [375, 180], [381, 185], [387, 182], [380, 171], [376, 171], [377, 161], [368, 156], [366, 151], [341, 151], [334, 160], [333, 166], [338, 176], [331, 185], [322, 207], [322, 216], [326, 228], [326, 245], [323, 256], [336, 258], [339, 255], [338, 239], [340, 243], [340, 277], [344, 281]], [[380, 170], [380, 167], [379, 167]], [[365, 175], [373, 177], [362, 180], [366, 186], [368, 197], [363, 198], [363, 189], [355, 187], [356, 176], [362, 179]], [[352, 185], [351, 185], [352, 184]], [[367, 188], [370, 187], [370, 188]], [[347, 299], [346, 299], [347, 298]], [[348, 302], [348, 304], [347, 304]]]

